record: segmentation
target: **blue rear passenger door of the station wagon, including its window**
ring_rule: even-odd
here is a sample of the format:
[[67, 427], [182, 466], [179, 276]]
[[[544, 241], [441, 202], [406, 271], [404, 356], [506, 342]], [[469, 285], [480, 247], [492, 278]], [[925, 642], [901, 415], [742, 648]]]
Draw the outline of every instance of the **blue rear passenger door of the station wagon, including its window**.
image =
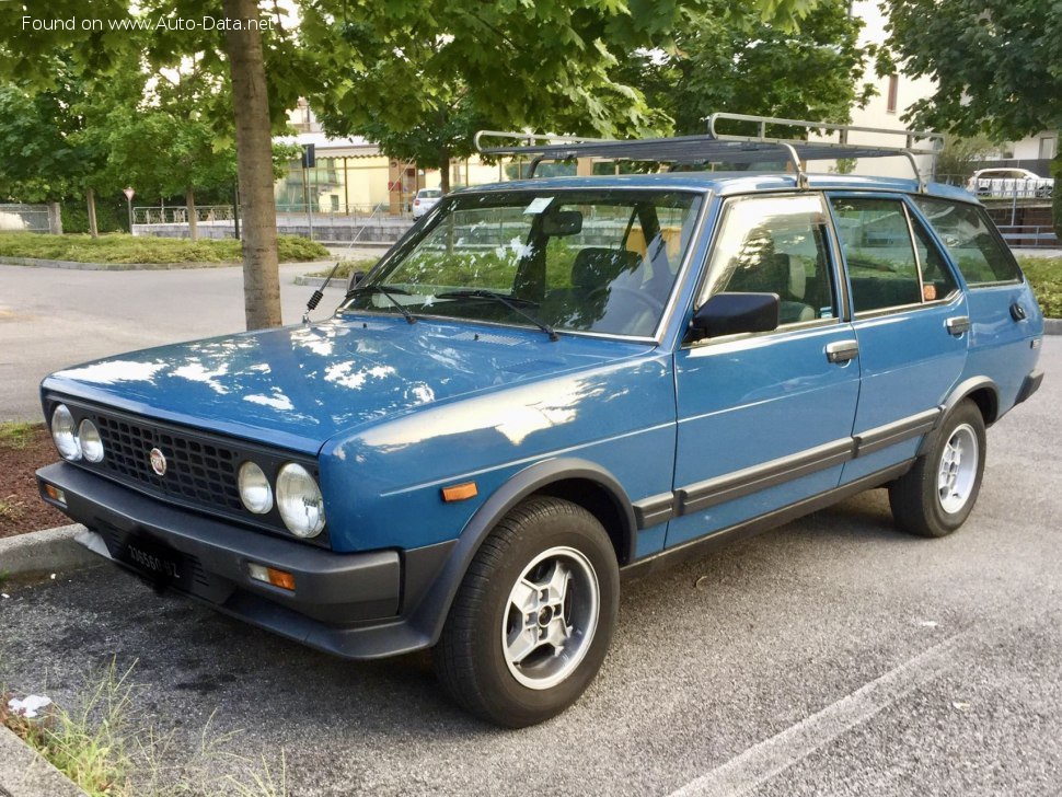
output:
[[903, 197], [831, 194], [830, 206], [862, 376], [847, 483], [915, 455], [962, 374], [970, 320], [955, 275]]

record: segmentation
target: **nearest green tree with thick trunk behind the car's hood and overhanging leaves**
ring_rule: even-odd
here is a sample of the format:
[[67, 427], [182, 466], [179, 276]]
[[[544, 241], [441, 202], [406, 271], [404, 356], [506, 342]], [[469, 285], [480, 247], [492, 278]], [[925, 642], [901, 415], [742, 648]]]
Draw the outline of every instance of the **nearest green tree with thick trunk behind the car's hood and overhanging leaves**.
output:
[[[792, 23], [813, 0], [757, 0], [765, 19]], [[727, 13], [743, 8], [730, 0]], [[24, 3], [0, 3], [0, 79], [23, 76], [48, 88], [45, 57], [70, 51], [86, 80], [120, 70], [158, 72], [195, 57], [228, 76], [219, 96], [232, 114], [244, 219], [244, 298], [249, 327], [280, 323], [273, 197], [272, 132], [298, 96], [351, 125], [384, 122], [409, 130], [430, 118], [443, 86], [465, 86], [466, 107], [511, 126], [601, 134], [654, 127], [637, 91], [613, 82], [619, 55], [666, 37], [704, 0], [297, 0], [301, 24], [287, 30], [278, 4], [262, 30], [255, 0], [49, 0], [30, 15], [85, 19], [73, 31], [23, 24]], [[129, 23], [159, 18], [221, 21], [194, 31]], [[125, 30], [117, 25], [125, 24]], [[434, 48], [424, 55], [422, 46]], [[417, 57], [413, 57], [417, 55]], [[424, 57], [422, 57], [424, 56]], [[454, 80], [454, 76], [460, 80]]]

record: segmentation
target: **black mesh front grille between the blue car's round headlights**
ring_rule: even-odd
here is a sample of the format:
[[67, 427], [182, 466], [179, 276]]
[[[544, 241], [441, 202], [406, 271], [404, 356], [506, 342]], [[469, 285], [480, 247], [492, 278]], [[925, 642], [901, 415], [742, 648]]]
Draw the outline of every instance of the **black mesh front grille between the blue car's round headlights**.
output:
[[[172, 498], [230, 511], [243, 509], [236, 488], [240, 459], [234, 450], [123, 418], [97, 414], [95, 421], [107, 452], [101, 464], [124, 481]], [[154, 448], [166, 458], [164, 476], [151, 469]]]

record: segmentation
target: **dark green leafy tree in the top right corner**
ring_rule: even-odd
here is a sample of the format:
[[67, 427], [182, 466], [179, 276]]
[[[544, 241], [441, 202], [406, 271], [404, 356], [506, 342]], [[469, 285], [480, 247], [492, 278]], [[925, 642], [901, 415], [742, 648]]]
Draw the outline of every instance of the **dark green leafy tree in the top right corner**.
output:
[[[1062, 13], [1038, 0], [885, 0], [888, 50], [879, 71], [899, 66], [936, 90], [909, 120], [961, 136], [1015, 140], [1062, 131]], [[1062, 182], [1062, 150], [1051, 172]], [[1062, 236], [1062, 189], [1054, 190]]]

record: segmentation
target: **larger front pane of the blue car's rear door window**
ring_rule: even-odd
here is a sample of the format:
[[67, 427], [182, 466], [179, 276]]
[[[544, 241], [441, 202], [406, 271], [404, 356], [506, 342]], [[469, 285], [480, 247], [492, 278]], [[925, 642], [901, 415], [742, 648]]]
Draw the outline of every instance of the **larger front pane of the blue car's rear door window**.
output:
[[903, 203], [831, 199], [857, 313], [920, 304], [922, 284]]

